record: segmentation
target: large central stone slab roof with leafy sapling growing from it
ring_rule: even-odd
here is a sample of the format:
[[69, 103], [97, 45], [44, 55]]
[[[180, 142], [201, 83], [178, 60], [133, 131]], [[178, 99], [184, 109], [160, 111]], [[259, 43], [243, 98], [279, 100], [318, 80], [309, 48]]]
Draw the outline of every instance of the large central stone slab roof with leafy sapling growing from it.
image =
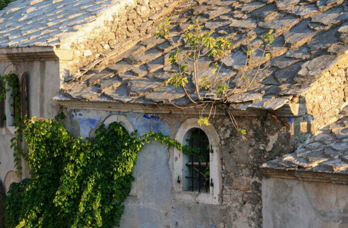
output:
[[[236, 110], [276, 110], [294, 95], [310, 89], [318, 74], [335, 65], [348, 50], [348, 3], [346, 0], [191, 0], [152, 16], [155, 23], [169, 14], [174, 22], [174, 41], [182, 44], [182, 33], [192, 17], [199, 16], [216, 35], [234, 35], [233, 50], [225, 59], [218, 80], [234, 88], [241, 77], [246, 51], [260, 45], [259, 37], [270, 28], [276, 39], [269, 66], [255, 84], [232, 97]], [[151, 22], [151, 21], [150, 21]], [[151, 22], [153, 23], [153, 22]], [[146, 29], [151, 23], [146, 23]], [[56, 100], [159, 104], [188, 103], [181, 89], [164, 87], [172, 75], [166, 61], [174, 45], [154, 37], [151, 29], [142, 40], [125, 40], [99, 59], [67, 78]], [[246, 75], [256, 71], [260, 53], [252, 56]], [[211, 58], [200, 62], [201, 75], [210, 74]], [[192, 83], [192, 82], [191, 82]], [[214, 94], [202, 92], [207, 99]]]

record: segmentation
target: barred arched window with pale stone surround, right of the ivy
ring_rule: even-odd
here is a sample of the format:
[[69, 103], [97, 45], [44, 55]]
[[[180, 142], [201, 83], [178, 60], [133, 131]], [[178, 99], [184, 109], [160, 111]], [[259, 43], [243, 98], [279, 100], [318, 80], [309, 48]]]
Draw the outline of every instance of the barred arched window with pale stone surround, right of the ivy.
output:
[[220, 137], [213, 125], [199, 126], [197, 118], [188, 118], [175, 134], [175, 140], [199, 149], [183, 153], [173, 148], [173, 196], [175, 200], [219, 204], [221, 195]]

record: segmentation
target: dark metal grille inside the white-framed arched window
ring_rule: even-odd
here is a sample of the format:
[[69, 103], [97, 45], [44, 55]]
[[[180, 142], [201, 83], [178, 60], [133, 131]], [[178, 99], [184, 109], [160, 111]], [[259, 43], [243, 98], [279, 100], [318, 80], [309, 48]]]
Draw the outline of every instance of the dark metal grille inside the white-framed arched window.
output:
[[189, 162], [186, 163], [188, 176], [185, 177], [189, 179], [187, 190], [209, 193], [209, 140], [204, 131], [199, 128], [191, 129], [190, 133], [187, 139], [188, 145], [199, 149], [199, 153], [189, 155]]

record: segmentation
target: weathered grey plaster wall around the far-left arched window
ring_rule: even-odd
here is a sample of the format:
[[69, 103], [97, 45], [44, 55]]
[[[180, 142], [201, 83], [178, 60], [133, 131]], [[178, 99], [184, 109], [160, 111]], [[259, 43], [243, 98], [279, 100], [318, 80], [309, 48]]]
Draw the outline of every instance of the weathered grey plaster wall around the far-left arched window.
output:
[[[0, 62], [0, 76], [9, 72], [15, 73], [19, 78], [23, 72], [28, 73], [29, 116], [52, 118], [57, 114], [59, 106], [52, 98], [59, 92], [58, 60]], [[0, 128], [0, 181], [7, 185], [10, 182], [5, 181], [6, 174], [15, 171], [13, 149], [10, 148], [10, 139], [13, 136], [13, 131], [9, 128]], [[23, 178], [26, 176], [28, 170], [23, 165]], [[7, 177], [15, 180], [13, 175]]]

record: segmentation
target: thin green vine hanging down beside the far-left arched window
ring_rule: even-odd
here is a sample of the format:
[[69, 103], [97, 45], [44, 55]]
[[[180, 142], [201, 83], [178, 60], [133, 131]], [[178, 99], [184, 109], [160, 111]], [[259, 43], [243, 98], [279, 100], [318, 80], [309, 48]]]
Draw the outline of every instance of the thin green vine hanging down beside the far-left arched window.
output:
[[[17, 75], [13, 73], [5, 74], [0, 77], [2, 82], [2, 92], [0, 94], [0, 100], [4, 100], [6, 98], [6, 93], [12, 89], [12, 97], [13, 97], [13, 107], [14, 108], [14, 117], [13, 124], [16, 127], [15, 136], [10, 140], [11, 148], [13, 148], [13, 157], [14, 163], [17, 168], [17, 174], [21, 175], [21, 166], [20, 166], [20, 156], [25, 156], [23, 153], [21, 142], [22, 142], [22, 129], [21, 129], [21, 98], [20, 98], [20, 84]], [[7, 84], [7, 86], [6, 86]]]

